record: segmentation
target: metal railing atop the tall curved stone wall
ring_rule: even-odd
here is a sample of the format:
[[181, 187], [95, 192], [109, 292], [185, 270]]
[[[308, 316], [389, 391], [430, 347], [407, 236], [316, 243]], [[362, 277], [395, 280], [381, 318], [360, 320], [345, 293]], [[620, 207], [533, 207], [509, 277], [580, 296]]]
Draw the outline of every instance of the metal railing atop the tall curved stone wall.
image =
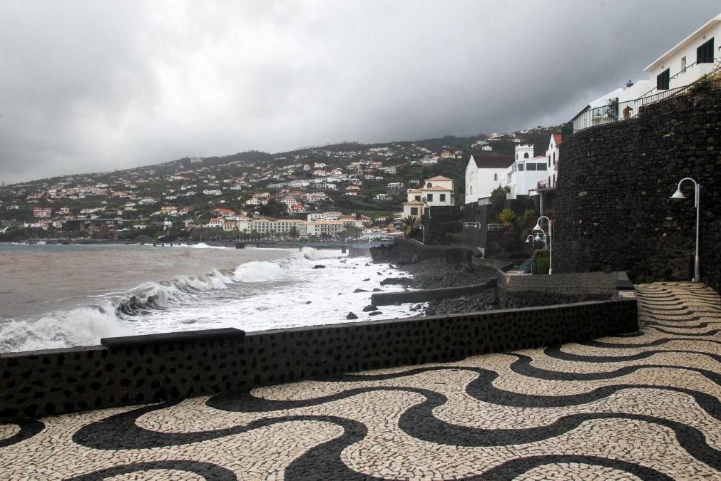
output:
[[[721, 89], [721, 79], [716, 78], [710, 81], [711, 89]], [[694, 82], [695, 84], [695, 82]], [[627, 102], [619, 102], [618, 99], [609, 99], [605, 105], [593, 107], [575, 117], [573, 120], [573, 131], [596, 127], [597, 125], [611, 124], [621, 120], [629, 120], [636, 117], [641, 107], [655, 104], [668, 97], [680, 94], [686, 94], [694, 84], [678, 86], [673, 89], [661, 90], [657, 94], [641, 96], [638, 99], [629, 100]], [[655, 90], [650, 90], [649, 92]]]

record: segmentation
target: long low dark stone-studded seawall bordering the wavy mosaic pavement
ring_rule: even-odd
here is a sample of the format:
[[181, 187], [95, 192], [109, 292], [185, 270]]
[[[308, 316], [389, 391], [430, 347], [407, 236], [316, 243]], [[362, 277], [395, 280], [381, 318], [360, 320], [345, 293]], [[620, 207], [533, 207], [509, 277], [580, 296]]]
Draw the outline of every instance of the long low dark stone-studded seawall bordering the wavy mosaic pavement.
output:
[[[0, 418], [154, 403], [637, 331], [634, 299], [0, 354]], [[143, 341], [144, 339], [144, 341]]]

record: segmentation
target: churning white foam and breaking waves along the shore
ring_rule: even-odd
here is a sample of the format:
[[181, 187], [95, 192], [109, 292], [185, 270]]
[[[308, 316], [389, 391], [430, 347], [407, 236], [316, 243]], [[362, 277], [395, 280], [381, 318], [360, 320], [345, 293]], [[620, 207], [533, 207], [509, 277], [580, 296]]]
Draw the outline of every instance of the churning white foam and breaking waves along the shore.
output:
[[[340, 323], [347, 322], [349, 311], [359, 320], [412, 315], [410, 305], [381, 307], [379, 317], [363, 312], [370, 304], [371, 289], [380, 287], [386, 276], [397, 275], [389, 266], [368, 260], [303, 248], [280, 261], [250, 261], [234, 269], [145, 282], [95, 297], [94, 307], [56, 311], [35, 322], [0, 323], [0, 352], [94, 345], [102, 337], [188, 328], [261, 331]], [[327, 268], [313, 269], [318, 261]], [[357, 287], [366, 292], [353, 292]]]

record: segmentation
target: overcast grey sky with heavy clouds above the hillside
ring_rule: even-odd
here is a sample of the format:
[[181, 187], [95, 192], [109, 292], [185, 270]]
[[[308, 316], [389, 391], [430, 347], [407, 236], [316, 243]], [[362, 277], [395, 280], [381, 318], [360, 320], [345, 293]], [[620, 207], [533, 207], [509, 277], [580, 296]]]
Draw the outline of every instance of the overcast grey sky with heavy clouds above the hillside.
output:
[[0, 181], [565, 122], [694, 1], [0, 1]]

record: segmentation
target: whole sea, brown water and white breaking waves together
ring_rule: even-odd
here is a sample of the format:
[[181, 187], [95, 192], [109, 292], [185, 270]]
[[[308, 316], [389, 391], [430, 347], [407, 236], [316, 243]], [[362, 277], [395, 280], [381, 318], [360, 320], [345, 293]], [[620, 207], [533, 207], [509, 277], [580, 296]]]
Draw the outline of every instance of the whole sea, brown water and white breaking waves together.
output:
[[374, 287], [402, 289], [381, 280], [404, 274], [314, 248], [0, 244], [0, 272], [0, 352], [133, 334], [344, 323], [350, 311], [358, 320], [412, 314], [410, 305], [363, 313]]

